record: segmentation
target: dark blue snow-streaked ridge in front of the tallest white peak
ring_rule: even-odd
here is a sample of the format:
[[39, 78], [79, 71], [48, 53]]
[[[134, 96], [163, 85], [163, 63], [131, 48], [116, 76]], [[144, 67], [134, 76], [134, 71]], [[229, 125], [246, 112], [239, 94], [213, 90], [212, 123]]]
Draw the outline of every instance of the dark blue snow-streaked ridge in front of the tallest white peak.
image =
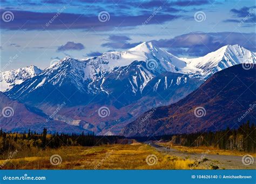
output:
[[201, 81], [190, 79], [186, 74], [173, 72], [153, 74], [147, 68], [145, 61], [133, 61], [128, 66], [113, 70], [99, 82], [94, 82], [105, 91], [108, 98], [118, 99], [113, 103], [118, 108], [137, 102], [145, 96], [153, 98], [158, 96], [159, 100], [165, 99], [167, 102], [175, 101], [177, 98], [173, 95], [173, 91], [188, 88], [179, 91], [180, 96], [183, 96], [196, 89], [200, 83]]

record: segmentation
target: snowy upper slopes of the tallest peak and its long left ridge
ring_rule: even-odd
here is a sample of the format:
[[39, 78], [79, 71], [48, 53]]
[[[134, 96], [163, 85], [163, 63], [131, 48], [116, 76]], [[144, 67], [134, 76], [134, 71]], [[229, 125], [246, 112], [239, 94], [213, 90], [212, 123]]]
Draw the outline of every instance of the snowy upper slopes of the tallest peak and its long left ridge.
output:
[[[11, 93], [8, 93], [12, 98], [22, 97], [26, 99], [29, 94], [41, 94], [42, 99], [37, 96], [37, 100], [43, 100], [43, 91], [47, 89], [61, 91], [66, 97], [72, 95], [72, 93], [86, 94], [87, 98], [78, 99], [81, 103], [88, 101], [88, 98], [95, 94], [107, 94], [107, 90], [104, 89], [104, 83], [107, 79], [106, 75], [111, 77], [112, 73], [129, 73], [133, 75], [133, 69], [131, 63], [134, 61], [144, 61], [146, 65], [137, 70], [138, 74], [141, 73], [143, 81], [139, 91], [142, 94], [142, 90], [145, 84], [152, 79], [153, 75], [158, 75], [163, 72], [180, 72], [180, 68], [185, 67], [186, 63], [179, 60], [176, 56], [164, 51], [164, 49], [158, 48], [150, 43], [142, 43], [128, 51], [121, 52], [106, 52], [101, 56], [90, 58], [87, 60], [72, 59], [65, 57], [59, 62], [55, 63], [36, 77], [31, 80], [27, 80], [22, 85], [18, 86]], [[153, 67], [152, 67], [153, 65]], [[123, 68], [122, 68], [123, 67]], [[117, 70], [118, 69], [118, 70]], [[143, 71], [142, 71], [143, 70]], [[148, 75], [148, 76], [146, 76]], [[122, 76], [122, 75], [119, 75]], [[133, 76], [135, 77], [135, 76]], [[117, 79], [118, 80], [118, 77]], [[131, 87], [134, 93], [136, 83], [134, 79], [131, 79]], [[100, 84], [98, 84], [100, 83]], [[42, 90], [42, 93], [39, 92]], [[14, 91], [16, 91], [14, 93]], [[54, 95], [54, 94], [51, 94]], [[62, 95], [60, 95], [62, 96]], [[59, 98], [56, 97], [55, 100]]]

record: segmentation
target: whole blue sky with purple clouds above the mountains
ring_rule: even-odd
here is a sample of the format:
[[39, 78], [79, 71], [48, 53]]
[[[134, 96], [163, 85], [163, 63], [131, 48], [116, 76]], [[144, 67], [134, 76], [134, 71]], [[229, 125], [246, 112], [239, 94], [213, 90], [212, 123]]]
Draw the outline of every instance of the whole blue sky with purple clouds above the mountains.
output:
[[255, 47], [254, 1], [1, 0], [1, 70], [97, 56], [153, 40], [177, 56]]

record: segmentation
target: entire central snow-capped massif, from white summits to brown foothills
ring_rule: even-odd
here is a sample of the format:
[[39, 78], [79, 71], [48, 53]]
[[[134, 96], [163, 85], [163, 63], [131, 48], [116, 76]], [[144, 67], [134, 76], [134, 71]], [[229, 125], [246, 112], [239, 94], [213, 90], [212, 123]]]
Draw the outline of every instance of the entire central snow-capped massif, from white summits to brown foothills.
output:
[[[149, 42], [94, 58], [65, 57], [5, 94], [46, 115], [65, 102], [53, 119], [83, 124], [98, 134], [118, 133], [121, 124], [156, 103], [175, 103], [219, 70], [244, 62], [255, 63], [255, 54], [238, 45], [186, 59]], [[103, 106], [111, 111], [105, 119], [98, 115]], [[114, 126], [118, 129], [111, 130]]]

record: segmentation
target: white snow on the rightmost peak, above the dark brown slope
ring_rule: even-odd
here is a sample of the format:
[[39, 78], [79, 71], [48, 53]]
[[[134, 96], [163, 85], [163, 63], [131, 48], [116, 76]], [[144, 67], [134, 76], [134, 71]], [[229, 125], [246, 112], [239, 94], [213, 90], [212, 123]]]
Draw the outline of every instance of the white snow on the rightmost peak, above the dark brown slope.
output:
[[183, 60], [186, 61], [187, 66], [182, 72], [192, 73], [194, 77], [201, 79], [207, 79], [220, 70], [240, 63], [256, 63], [255, 53], [240, 45], [226, 45], [200, 58], [183, 58]]

